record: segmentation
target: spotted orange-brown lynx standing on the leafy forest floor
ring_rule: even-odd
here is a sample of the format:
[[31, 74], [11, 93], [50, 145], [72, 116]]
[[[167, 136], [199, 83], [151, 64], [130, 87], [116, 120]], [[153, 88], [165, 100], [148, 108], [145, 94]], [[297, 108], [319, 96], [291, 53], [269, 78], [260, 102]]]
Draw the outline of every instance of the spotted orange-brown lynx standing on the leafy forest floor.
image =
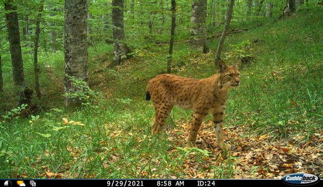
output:
[[164, 125], [174, 105], [193, 110], [193, 122], [187, 137], [187, 147], [195, 147], [196, 136], [201, 123], [208, 114], [213, 115], [217, 145], [229, 149], [223, 140], [223, 120], [228, 91], [240, 83], [239, 62], [227, 66], [220, 60], [217, 74], [206, 79], [179, 77], [171, 74], [151, 79], [146, 88], [146, 100], [152, 99], [155, 107], [155, 121], [152, 135], [162, 134]]

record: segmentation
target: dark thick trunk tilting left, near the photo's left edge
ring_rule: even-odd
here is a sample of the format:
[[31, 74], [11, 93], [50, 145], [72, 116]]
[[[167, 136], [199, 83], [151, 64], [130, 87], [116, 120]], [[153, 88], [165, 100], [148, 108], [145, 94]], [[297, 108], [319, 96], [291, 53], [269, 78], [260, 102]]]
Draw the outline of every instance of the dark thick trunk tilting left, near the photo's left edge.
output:
[[18, 99], [18, 105], [28, 103], [25, 96], [25, 75], [24, 75], [24, 64], [22, 58], [22, 50], [19, 35], [19, 25], [18, 25], [18, 15], [17, 7], [11, 5], [12, 1], [6, 1], [5, 9], [11, 11], [6, 13], [6, 18], [8, 23], [8, 38], [9, 38], [9, 48], [11, 54], [12, 63], [12, 74], [13, 81], [16, 88], [16, 94]]

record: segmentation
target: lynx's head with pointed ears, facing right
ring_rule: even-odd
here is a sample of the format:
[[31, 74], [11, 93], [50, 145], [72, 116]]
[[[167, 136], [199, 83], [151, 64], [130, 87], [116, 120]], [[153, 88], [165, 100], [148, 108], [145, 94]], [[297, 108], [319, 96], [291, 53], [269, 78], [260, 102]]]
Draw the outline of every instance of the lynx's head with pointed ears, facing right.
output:
[[237, 69], [239, 61], [231, 66], [227, 66], [223, 60], [217, 65], [217, 74], [219, 75], [218, 86], [227, 86], [236, 88], [240, 83], [240, 73]]

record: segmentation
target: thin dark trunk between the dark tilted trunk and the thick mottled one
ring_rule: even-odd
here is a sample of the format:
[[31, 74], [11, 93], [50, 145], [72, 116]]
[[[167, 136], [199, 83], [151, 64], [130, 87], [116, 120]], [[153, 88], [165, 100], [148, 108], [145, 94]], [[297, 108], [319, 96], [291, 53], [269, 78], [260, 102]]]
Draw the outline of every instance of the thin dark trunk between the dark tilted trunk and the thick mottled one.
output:
[[41, 32], [41, 17], [44, 7], [44, 0], [41, 1], [41, 7], [39, 8], [39, 13], [36, 20], [36, 33], [34, 39], [34, 73], [35, 73], [35, 90], [36, 95], [40, 99], [42, 97], [41, 89], [39, 88], [39, 65], [38, 65], [38, 43], [39, 43], [39, 34]]

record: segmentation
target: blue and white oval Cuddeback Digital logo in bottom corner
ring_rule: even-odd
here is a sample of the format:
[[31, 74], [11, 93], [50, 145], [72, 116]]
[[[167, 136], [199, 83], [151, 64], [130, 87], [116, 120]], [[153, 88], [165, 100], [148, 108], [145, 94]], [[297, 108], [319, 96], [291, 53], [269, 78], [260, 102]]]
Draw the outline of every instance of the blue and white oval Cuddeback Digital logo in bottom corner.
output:
[[319, 177], [308, 173], [294, 173], [285, 175], [281, 180], [292, 185], [310, 185], [319, 182]]

